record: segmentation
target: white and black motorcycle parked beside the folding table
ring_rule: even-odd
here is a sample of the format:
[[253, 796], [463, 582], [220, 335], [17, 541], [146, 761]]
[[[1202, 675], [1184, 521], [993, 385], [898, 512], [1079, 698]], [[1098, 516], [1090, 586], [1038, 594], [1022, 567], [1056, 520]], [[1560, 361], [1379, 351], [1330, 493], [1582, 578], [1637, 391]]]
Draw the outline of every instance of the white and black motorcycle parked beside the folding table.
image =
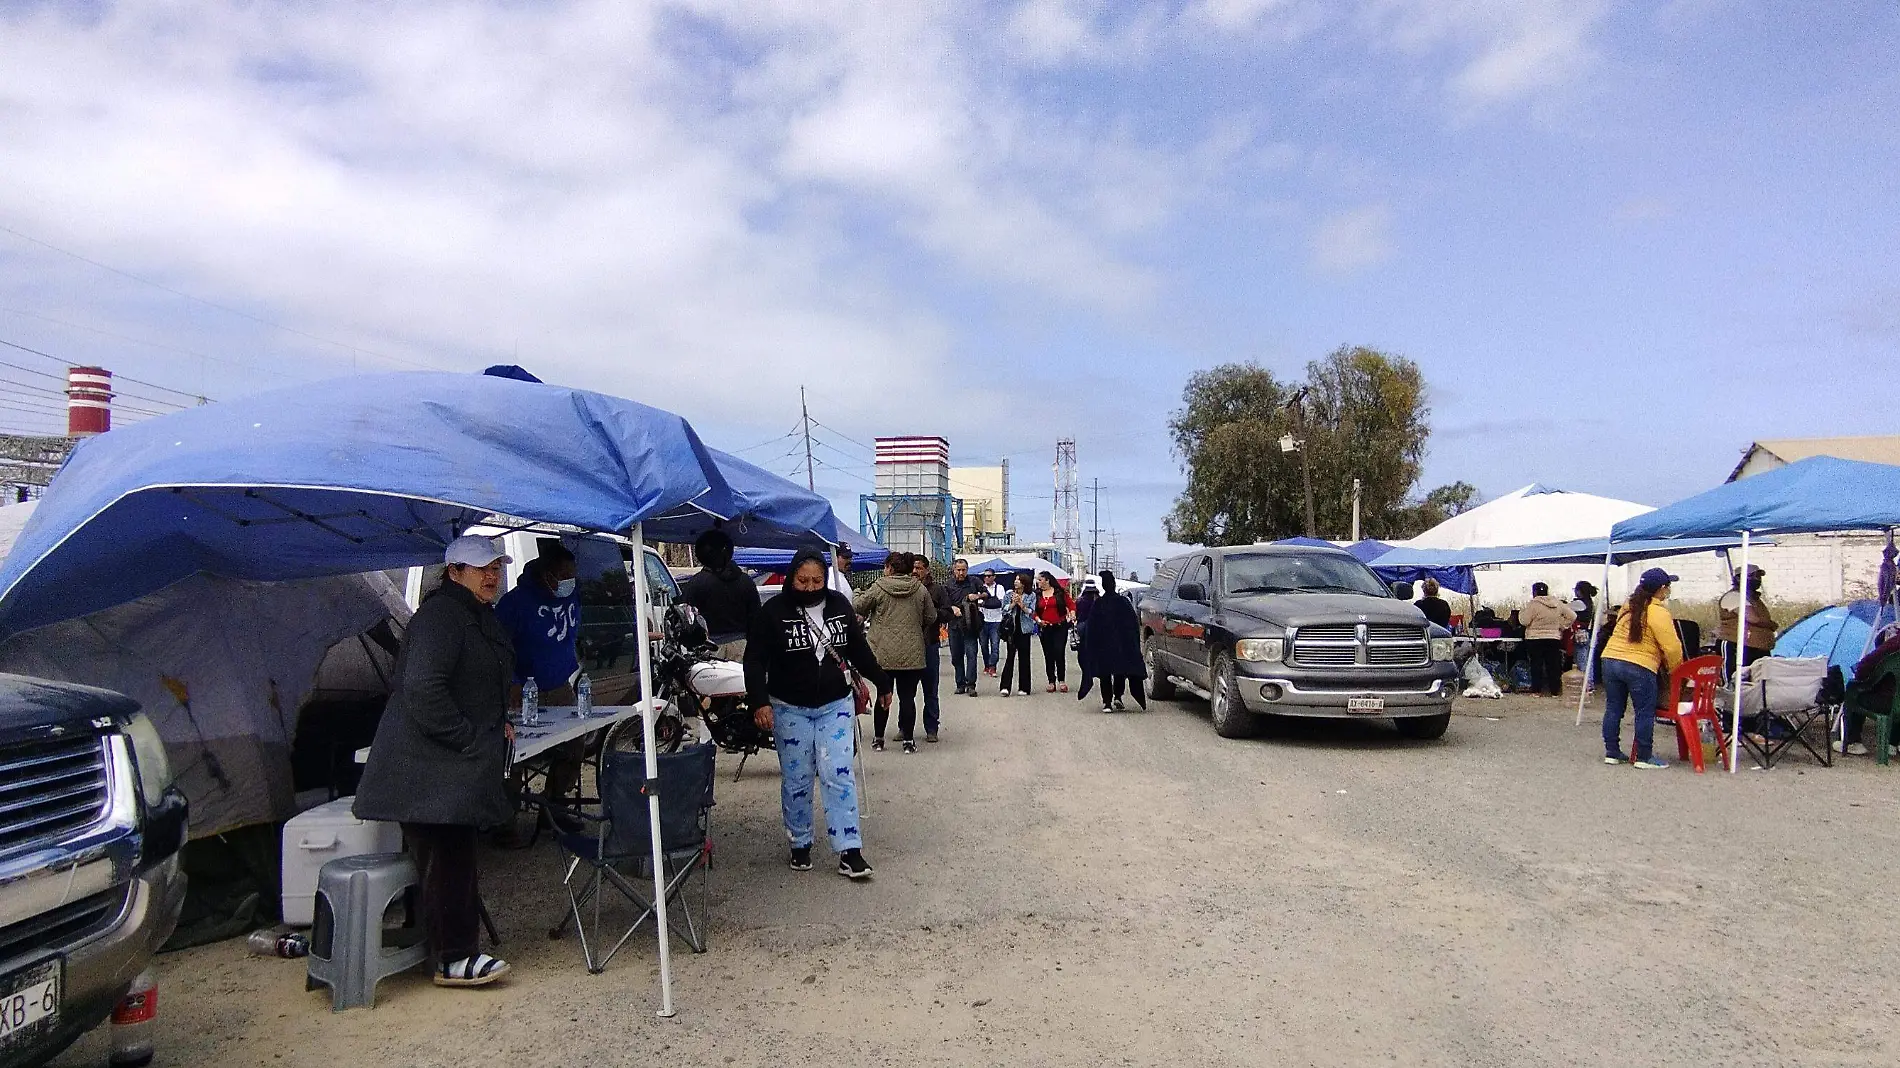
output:
[[[739, 772], [760, 749], [773, 749], [770, 730], [758, 730], [745, 707], [745, 667], [718, 654], [707, 635], [705, 618], [692, 604], [667, 608], [661, 640], [654, 650], [654, 677], [665, 711], [654, 720], [659, 753], [676, 753], [688, 743], [692, 720], [705, 726], [705, 737], [739, 756]], [[638, 720], [625, 720], [608, 735], [602, 751], [640, 753], [644, 734]]]

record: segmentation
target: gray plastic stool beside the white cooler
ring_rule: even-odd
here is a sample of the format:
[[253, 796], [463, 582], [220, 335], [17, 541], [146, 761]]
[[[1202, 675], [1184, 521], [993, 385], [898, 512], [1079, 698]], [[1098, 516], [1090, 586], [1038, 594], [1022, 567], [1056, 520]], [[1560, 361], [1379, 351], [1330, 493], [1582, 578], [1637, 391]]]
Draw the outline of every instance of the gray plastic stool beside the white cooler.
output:
[[338, 857], [317, 872], [315, 924], [310, 929], [310, 977], [331, 988], [331, 1011], [376, 1003], [376, 984], [429, 958], [422, 931], [410, 925], [386, 946], [382, 914], [397, 895], [416, 886], [416, 863], [407, 853]]

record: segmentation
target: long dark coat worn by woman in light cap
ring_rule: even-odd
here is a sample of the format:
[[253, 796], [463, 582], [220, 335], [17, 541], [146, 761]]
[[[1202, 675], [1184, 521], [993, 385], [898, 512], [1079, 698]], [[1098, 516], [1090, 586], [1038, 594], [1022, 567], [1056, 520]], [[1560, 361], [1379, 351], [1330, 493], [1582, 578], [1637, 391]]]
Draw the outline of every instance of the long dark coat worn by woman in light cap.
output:
[[431, 593], [408, 620], [395, 692], [357, 785], [357, 819], [496, 827], [513, 817], [507, 690], [515, 648], [466, 587]]

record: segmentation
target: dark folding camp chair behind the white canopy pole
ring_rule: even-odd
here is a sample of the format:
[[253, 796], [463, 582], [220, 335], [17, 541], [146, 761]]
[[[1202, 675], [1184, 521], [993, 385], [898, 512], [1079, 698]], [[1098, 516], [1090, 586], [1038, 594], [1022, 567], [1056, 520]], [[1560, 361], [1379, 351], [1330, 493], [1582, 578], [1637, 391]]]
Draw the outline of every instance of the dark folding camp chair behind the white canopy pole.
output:
[[[667, 925], [694, 952], [707, 952], [705, 933], [699, 925], [705, 922], [703, 914], [711, 895], [707, 868], [712, 863], [709, 827], [714, 753], [718, 753], [716, 745], [701, 743], [659, 756], [659, 849], [665, 865]], [[572, 922], [581, 937], [581, 956], [587, 960], [587, 971], [595, 975], [606, 969], [614, 954], [627, 944], [627, 939], [650, 916], [656, 916], [650, 895], [654, 867], [652, 836], [648, 832], [646, 756], [627, 751], [602, 754], [598, 787], [598, 813], [580, 813], [591, 829], [555, 834], [555, 842], [570, 857], [566, 876], [562, 878], [562, 886], [568, 891], [568, 912], [547, 931], [549, 939], [560, 939]], [[695, 870], [701, 876], [701, 916], [697, 918], [684, 893], [686, 882]], [[648, 882], [642, 886], [636, 880]], [[595, 952], [602, 944], [600, 897], [606, 887], [618, 889], [627, 901], [638, 905], [640, 914], [627, 927], [627, 933], [614, 943], [614, 948], [597, 960]], [[589, 905], [593, 906], [591, 924], [581, 914]]]

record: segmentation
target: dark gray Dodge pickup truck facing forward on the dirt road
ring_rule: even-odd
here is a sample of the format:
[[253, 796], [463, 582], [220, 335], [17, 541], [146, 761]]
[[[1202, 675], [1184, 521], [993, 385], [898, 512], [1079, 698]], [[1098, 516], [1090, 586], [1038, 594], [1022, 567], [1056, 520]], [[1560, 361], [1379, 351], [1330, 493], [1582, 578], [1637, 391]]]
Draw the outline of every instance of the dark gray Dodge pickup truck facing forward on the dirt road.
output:
[[1260, 715], [1391, 716], [1406, 737], [1452, 722], [1452, 635], [1343, 549], [1235, 545], [1174, 557], [1142, 595], [1157, 697], [1206, 696], [1214, 730], [1246, 737]]

